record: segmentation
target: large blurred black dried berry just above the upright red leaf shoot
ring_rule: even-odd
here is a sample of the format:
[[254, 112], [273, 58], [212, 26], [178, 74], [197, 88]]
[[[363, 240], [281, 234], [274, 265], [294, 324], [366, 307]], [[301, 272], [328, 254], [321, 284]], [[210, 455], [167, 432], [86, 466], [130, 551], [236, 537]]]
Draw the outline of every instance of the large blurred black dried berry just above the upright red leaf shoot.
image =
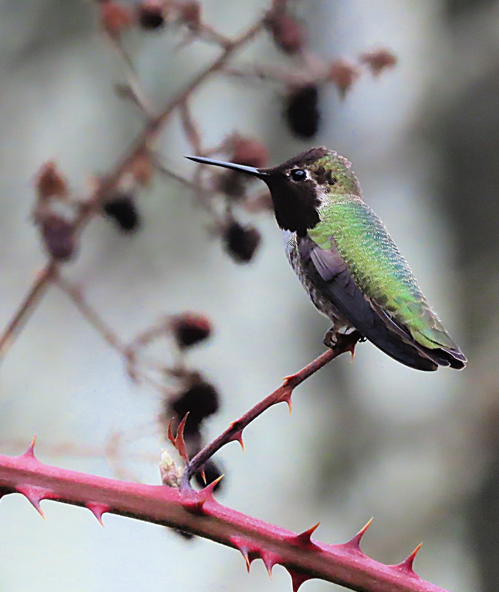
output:
[[190, 384], [184, 392], [171, 401], [170, 406], [180, 418], [186, 413], [189, 414], [184, 429], [185, 435], [189, 435], [197, 432], [200, 423], [206, 417], [218, 411], [218, 391], [210, 382], [200, 379], [199, 382]]

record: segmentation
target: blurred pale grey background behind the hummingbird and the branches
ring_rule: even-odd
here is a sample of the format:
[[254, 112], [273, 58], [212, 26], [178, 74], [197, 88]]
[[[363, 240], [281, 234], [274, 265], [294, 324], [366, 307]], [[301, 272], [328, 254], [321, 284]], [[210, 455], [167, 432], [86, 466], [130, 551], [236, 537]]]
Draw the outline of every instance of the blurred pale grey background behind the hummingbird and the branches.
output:
[[[395, 69], [363, 76], [342, 101], [321, 89], [316, 136], [296, 139], [282, 117], [283, 85], [215, 76], [193, 96], [206, 146], [233, 131], [267, 144], [277, 164], [312, 145], [353, 162], [364, 199], [385, 222], [469, 364], [413, 371], [369, 343], [301, 385], [293, 414], [276, 406], [217, 462], [218, 500], [316, 537], [351, 538], [370, 517], [363, 550], [398, 563], [424, 541], [415, 570], [453, 592], [499, 588], [499, 3], [492, 0], [297, 2], [318, 56], [389, 47]], [[260, 0], [203, 2], [203, 18], [235, 36], [268, 8]], [[161, 107], [220, 53], [196, 41], [174, 53], [175, 30], [132, 36], [127, 49]], [[286, 61], [287, 60], [287, 61]], [[292, 63], [268, 34], [233, 63]], [[126, 153], [143, 118], [117, 98], [123, 65], [91, 2], [0, 4], [0, 324], [16, 310], [46, 256], [31, 221], [33, 180], [55, 159], [76, 193]], [[190, 175], [177, 120], [158, 148]], [[129, 236], [104, 218], [82, 235], [63, 270], [124, 340], [162, 314], [201, 311], [216, 327], [188, 357], [219, 388], [212, 439], [324, 350], [316, 313], [283, 253], [272, 215], [245, 214], [263, 235], [237, 265], [209, 236], [192, 192], [156, 176], [137, 201]], [[164, 350], [168, 355], [168, 350]], [[41, 461], [114, 476], [104, 449], [123, 433], [123, 464], [159, 483], [161, 398], [132, 384], [123, 360], [57, 288], [50, 288], [0, 367], [0, 451], [18, 454], [34, 433]], [[133, 435], [133, 436], [131, 436]], [[138, 437], [140, 436], [140, 437]], [[128, 442], [130, 440], [130, 442]], [[60, 453], [71, 443], [75, 452]], [[66, 446], [67, 449], [67, 446]], [[137, 455], [147, 459], [139, 462]], [[127, 459], [130, 455], [130, 459]], [[156, 460], [157, 459], [157, 460]], [[163, 527], [51, 501], [44, 522], [21, 496], [0, 503], [0, 591], [290, 590], [262, 562], [245, 574], [238, 552], [184, 540]], [[303, 590], [340, 590], [310, 581]]]

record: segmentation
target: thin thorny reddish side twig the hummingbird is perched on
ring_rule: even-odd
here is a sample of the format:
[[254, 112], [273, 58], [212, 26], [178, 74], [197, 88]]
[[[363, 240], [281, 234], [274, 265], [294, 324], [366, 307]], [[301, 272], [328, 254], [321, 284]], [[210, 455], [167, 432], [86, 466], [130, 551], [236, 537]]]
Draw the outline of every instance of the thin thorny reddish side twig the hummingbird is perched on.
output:
[[348, 335], [340, 336], [337, 346], [334, 349], [328, 349], [327, 352], [322, 353], [313, 362], [306, 365], [305, 368], [302, 368], [299, 372], [296, 372], [296, 374], [286, 377], [282, 386], [276, 388], [274, 392], [271, 392], [270, 395], [257, 403], [242, 417], [235, 422], [232, 422], [224, 432], [213, 440], [213, 442], [210, 442], [190, 460], [182, 475], [181, 487], [185, 489], [190, 488], [190, 480], [193, 475], [199, 472], [203, 468], [204, 463], [211, 458], [215, 452], [219, 451], [222, 446], [234, 441], [239, 442], [241, 446], [243, 446], [242, 430], [269, 407], [284, 401], [288, 404], [291, 413], [291, 395], [293, 389], [298, 387], [298, 385], [304, 380], [311, 377], [312, 374], [315, 374], [315, 372], [342, 353], [351, 352], [353, 355], [355, 345], [360, 337], [360, 333], [356, 331]]

